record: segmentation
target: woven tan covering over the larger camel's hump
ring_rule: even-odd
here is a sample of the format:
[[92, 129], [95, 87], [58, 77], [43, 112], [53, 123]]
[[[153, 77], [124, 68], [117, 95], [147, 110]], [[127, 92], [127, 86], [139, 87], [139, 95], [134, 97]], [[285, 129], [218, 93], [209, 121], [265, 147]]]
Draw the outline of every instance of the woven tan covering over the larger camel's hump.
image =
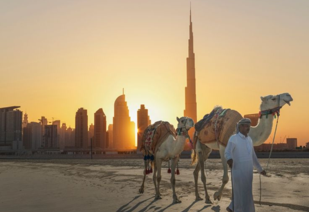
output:
[[215, 114], [207, 120], [207, 123], [203, 128], [198, 132], [197, 138], [201, 143], [214, 143], [218, 142], [219, 144], [226, 146], [229, 138], [235, 134], [236, 124], [243, 117], [236, 111], [228, 109], [223, 115]]

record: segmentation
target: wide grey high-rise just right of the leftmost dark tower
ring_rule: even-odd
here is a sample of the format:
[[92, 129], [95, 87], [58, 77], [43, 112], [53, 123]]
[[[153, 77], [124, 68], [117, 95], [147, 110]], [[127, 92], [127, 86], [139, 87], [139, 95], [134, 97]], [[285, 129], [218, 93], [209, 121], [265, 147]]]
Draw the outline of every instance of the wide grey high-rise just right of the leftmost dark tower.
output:
[[41, 145], [41, 124], [32, 121], [23, 128], [23, 146], [28, 150], [38, 150]]

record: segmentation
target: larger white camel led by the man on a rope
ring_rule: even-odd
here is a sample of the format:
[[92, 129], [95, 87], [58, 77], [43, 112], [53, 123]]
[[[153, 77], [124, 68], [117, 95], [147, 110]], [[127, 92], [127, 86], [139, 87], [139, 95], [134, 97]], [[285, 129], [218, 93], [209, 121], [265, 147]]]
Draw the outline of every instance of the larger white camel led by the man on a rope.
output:
[[[280, 108], [285, 104], [291, 105], [290, 102], [293, 101], [289, 93], [283, 93], [276, 96], [268, 95], [260, 98], [262, 100], [260, 104], [260, 119], [258, 125], [256, 125], [255, 127], [250, 127], [250, 132], [248, 134], [252, 138], [253, 146], [259, 146], [267, 140], [272, 131], [275, 113], [279, 111]], [[233, 127], [235, 129], [235, 124], [236, 123], [231, 124], [230, 127]], [[231, 135], [228, 136], [230, 137]], [[222, 145], [222, 143], [225, 143], [225, 145]], [[214, 193], [214, 200], [218, 199], [219, 201], [221, 199], [224, 186], [229, 181], [229, 177], [227, 174], [227, 163], [224, 157], [226, 144], [227, 141], [219, 141], [205, 144], [203, 143], [203, 141], [197, 138], [196, 147], [195, 149], [193, 149], [192, 153], [192, 165], [198, 160], [197, 166], [195, 167], [195, 170], [193, 172], [196, 201], [202, 200], [197, 189], [198, 173], [201, 170], [201, 180], [204, 184], [205, 189], [205, 203], [212, 204], [212, 202], [210, 201], [210, 197], [207, 193], [206, 177], [204, 173], [205, 161], [209, 157], [212, 149], [219, 150], [224, 170], [224, 174], [222, 177], [222, 185], [219, 191]]]

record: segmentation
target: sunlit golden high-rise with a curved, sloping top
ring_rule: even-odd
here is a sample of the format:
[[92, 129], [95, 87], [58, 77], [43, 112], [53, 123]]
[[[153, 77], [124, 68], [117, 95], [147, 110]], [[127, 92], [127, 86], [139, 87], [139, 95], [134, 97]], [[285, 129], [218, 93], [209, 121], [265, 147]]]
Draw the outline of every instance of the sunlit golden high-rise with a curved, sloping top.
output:
[[[117, 150], [135, 149], [135, 126], [131, 123], [124, 93], [115, 101], [113, 117], [113, 148]], [[134, 127], [132, 127], [134, 126]]]

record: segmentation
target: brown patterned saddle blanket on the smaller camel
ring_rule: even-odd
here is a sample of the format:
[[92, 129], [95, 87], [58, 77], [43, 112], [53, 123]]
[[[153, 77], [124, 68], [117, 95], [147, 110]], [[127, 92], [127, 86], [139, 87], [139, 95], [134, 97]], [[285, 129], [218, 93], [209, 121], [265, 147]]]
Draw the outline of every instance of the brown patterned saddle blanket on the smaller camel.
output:
[[155, 155], [158, 148], [169, 135], [176, 138], [176, 130], [167, 121], [157, 121], [149, 125], [143, 133], [140, 151], [144, 155]]

